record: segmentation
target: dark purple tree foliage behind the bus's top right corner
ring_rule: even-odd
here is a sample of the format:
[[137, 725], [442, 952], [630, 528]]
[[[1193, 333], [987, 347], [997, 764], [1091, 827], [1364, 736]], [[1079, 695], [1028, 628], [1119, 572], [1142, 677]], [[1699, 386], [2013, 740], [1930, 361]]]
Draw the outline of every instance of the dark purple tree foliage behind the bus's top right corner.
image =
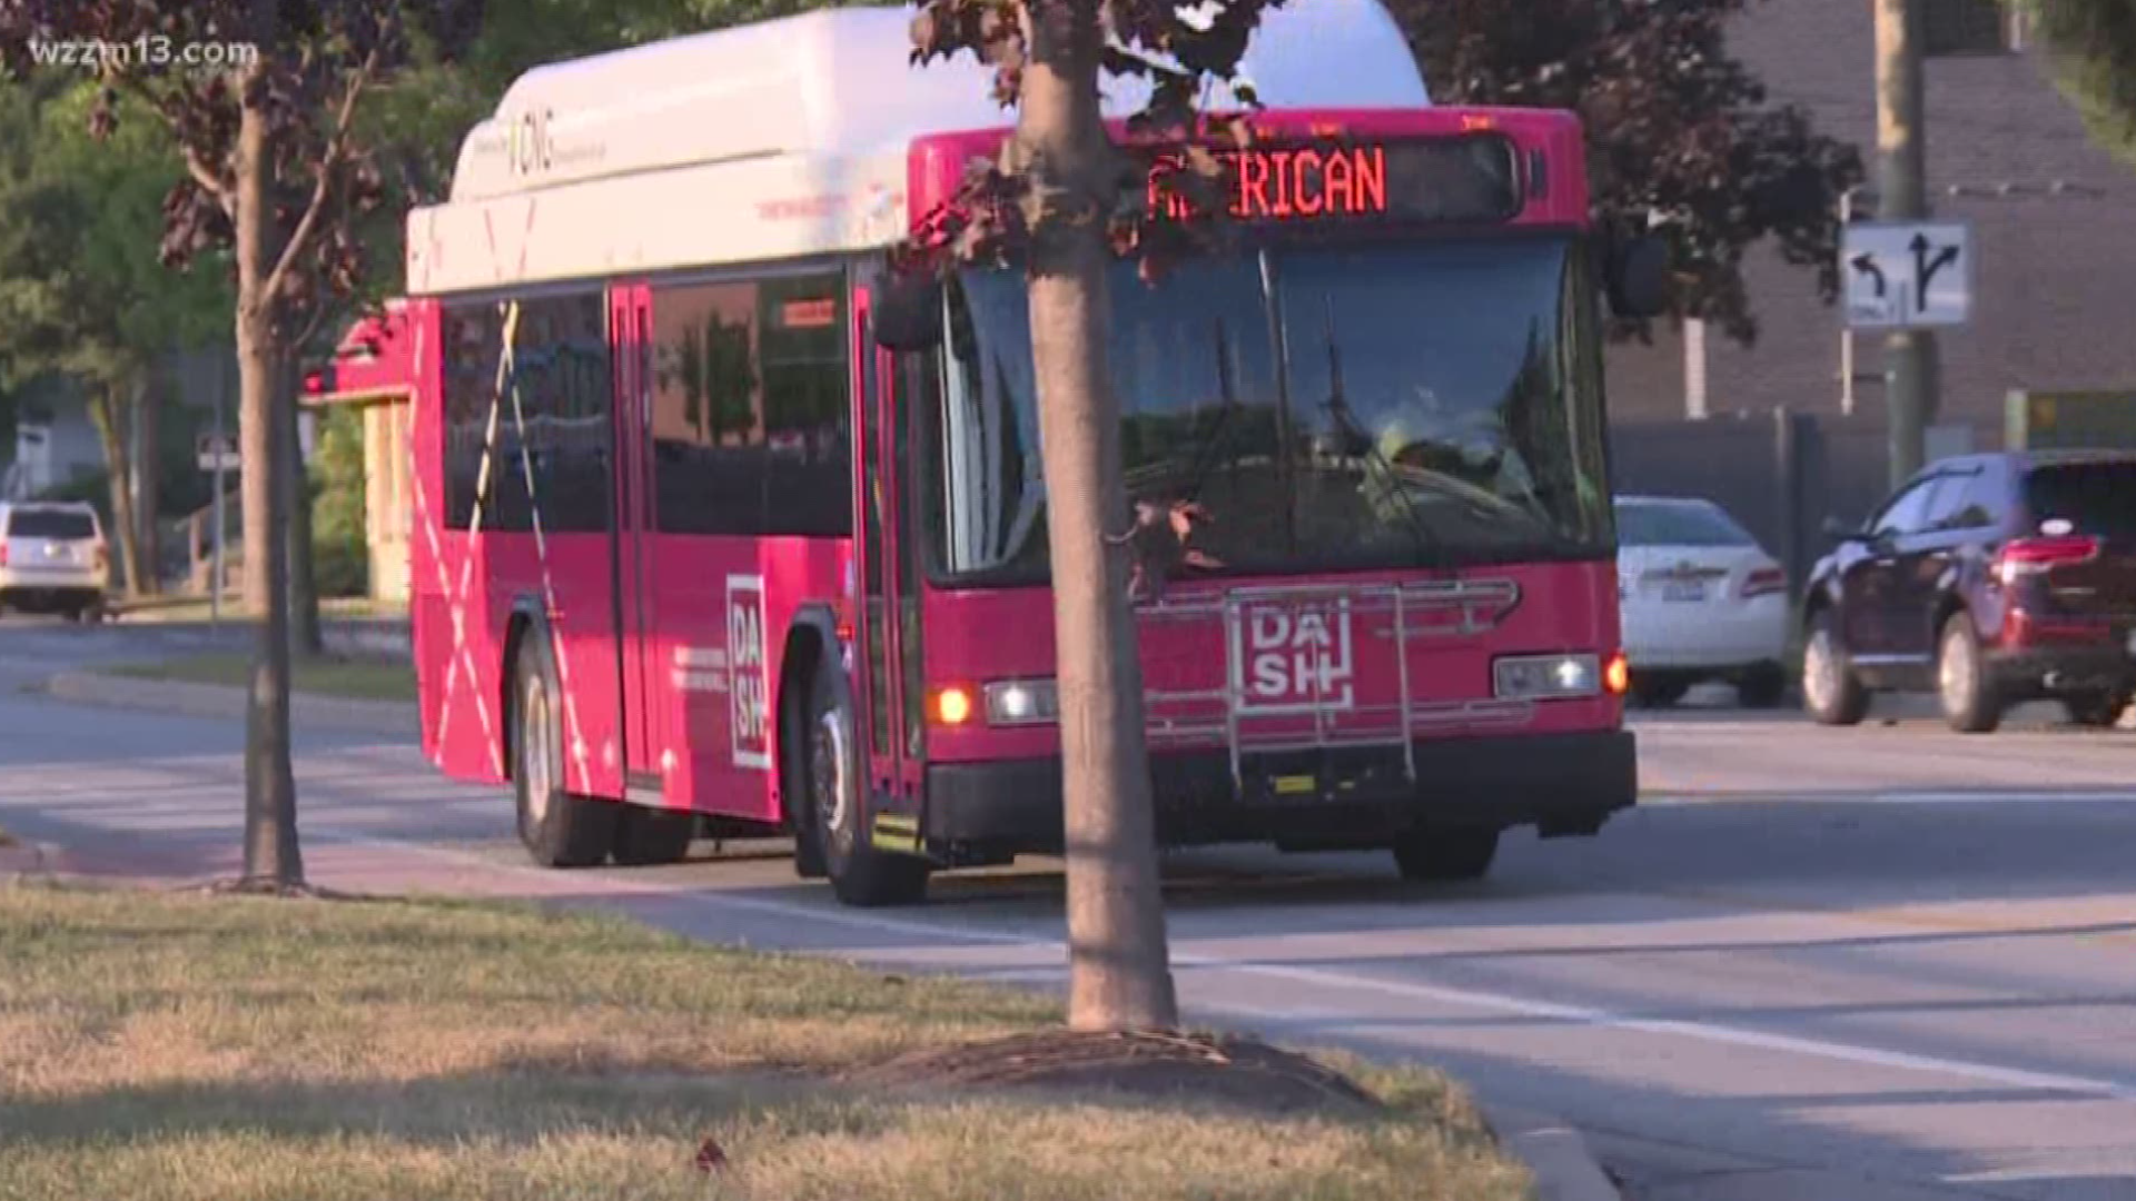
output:
[[[1598, 222], [1670, 237], [1679, 316], [1754, 342], [1743, 254], [1771, 237], [1839, 295], [1839, 197], [1854, 147], [1773, 105], [1728, 53], [1752, 0], [1388, 0], [1440, 103], [1572, 109]], [[1619, 331], [1640, 331], [1625, 325]]]

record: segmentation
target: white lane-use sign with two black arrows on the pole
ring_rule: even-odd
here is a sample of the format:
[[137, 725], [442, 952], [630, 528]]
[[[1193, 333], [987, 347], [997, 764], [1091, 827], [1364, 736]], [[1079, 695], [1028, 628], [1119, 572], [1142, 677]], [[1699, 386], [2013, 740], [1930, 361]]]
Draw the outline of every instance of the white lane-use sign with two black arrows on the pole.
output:
[[1850, 329], [1965, 325], [1974, 308], [1972, 227], [1850, 222], [1839, 274]]

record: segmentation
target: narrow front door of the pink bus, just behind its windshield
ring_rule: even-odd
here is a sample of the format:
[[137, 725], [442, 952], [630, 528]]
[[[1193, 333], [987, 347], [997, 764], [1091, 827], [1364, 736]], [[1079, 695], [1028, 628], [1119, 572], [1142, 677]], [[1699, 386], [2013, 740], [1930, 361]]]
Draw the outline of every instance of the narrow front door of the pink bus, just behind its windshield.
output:
[[[918, 797], [918, 603], [901, 558], [908, 539], [897, 532], [899, 477], [908, 440], [897, 419], [895, 357], [876, 346], [867, 288], [854, 288], [854, 553], [861, 558], [861, 613], [857, 680], [867, 722], [869, 782], [878, 797]], [[910, 812], [910, 810], [908, 810]]]

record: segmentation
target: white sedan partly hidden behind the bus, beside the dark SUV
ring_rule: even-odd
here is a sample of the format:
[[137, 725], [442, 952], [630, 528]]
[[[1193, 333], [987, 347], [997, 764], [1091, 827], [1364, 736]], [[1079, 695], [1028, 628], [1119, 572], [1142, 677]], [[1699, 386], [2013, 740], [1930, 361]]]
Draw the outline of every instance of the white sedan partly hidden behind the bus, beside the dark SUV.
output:
[[1788, 690], [1788, 573], [1709, 500], [1617, 498], [1617, 600], [1632, 699], [1662, 707], [1726, 680], [1745, 705]]

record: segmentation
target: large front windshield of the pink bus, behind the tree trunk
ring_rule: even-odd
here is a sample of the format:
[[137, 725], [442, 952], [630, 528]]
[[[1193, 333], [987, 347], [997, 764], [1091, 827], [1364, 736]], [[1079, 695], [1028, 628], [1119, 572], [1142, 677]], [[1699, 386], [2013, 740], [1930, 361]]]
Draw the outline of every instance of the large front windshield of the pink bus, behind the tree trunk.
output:
[[[1596, 297], [1570, 237], [1294, 246], [1111, 278], [1132, 500], [1198, 502], [1203, 575], [1606, 556]], [[1025, 280], [965, 271], [925, 406], [933, 575], [1047, 573]], [[1126, 504], [1121, 506], [1126, 517]]]

